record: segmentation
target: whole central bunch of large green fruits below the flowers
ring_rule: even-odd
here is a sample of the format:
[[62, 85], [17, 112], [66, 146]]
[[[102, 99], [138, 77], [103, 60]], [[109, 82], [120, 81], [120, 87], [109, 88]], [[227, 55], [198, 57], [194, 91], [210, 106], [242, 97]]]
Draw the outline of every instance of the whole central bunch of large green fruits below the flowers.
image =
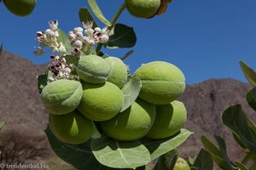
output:
[[131, 141], [144, 136], [166, 139], [186, 122], [185, 106], [175, 100], [183, 94], [185, 78], [175, 65], [153, 61], [138, 68], [132, 78], [139, 78], [142, 88], [125, 111], [121, 88], [128, 71], [121, 59], [84, 55], [76, 73], [80, 82], [56, 80], [41, 93], [52, 132], [67, 144], [90, 139], [94, 123], [112, 139]]

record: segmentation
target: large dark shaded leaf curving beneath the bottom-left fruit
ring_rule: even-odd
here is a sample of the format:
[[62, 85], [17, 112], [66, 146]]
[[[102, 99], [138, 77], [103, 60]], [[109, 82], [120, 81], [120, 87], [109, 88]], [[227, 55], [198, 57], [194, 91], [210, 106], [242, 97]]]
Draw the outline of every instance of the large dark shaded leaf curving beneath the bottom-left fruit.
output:
[[63, 161], [72, 164], [79, 170], [113, 170], [113, 168], [105, 167], [96, 161], [90, 150], [90, 141], [84, 144], [66, 144], [55, 138], [48, 126], [45, 130], [49, 144], [55, 154]]

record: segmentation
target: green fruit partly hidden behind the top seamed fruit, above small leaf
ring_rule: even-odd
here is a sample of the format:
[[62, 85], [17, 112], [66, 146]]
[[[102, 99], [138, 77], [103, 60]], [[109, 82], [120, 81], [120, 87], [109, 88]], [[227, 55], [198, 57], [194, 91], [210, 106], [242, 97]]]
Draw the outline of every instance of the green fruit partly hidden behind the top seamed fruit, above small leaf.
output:
[[125, 66], [125, 63], [116, 57], [108, 57], [106, 61], [110, 65], [107, 81], [122, 88], [127, 82], [127, 67]]

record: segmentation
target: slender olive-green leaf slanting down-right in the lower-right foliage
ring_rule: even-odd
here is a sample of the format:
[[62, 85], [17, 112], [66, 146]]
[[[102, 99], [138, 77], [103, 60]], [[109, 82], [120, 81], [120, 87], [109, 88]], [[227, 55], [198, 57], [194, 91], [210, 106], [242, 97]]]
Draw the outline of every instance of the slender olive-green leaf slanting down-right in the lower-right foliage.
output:
[[205, 150], [207, 150], [211, 155], [212, 159], [218, 164], [218, 167], [224, 168], [225, 161], [218, 147], [212, 143], [210, 139], [206, 136], [201, 136], [201, 142], [204, 145]]

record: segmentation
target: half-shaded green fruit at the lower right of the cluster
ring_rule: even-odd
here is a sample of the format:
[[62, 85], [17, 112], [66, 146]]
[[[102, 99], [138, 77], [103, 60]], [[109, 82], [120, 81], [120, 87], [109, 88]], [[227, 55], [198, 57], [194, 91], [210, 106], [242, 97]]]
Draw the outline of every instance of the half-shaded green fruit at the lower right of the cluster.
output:
[[187, 111], [182, 102], [155, 105], [156, 116], [153, 127], [147, 133], [150, 139], [166, 139], [178, 133], [187, 120]]

